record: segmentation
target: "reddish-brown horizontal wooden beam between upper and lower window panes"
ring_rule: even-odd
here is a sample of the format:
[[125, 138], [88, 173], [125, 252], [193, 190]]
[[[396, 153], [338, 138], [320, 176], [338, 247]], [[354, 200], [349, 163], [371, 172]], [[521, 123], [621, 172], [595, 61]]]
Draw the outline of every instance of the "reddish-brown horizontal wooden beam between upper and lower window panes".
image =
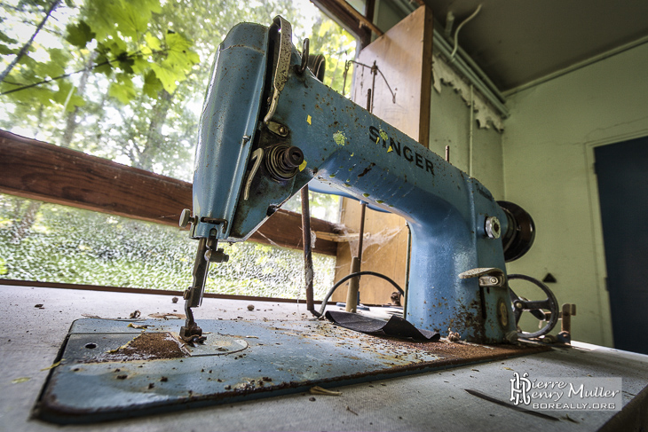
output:
[[[4, 130], [0, 155], [3, 193], [173, 226], [182, 209], [192, 207], [190, 183]], [[315, 218], [311, 229], [340, 232], [336, 224]], [[301, 216], [280, 209], [249, 240], [301, 248]], [[313, 252], [336, 255], [337, 243], [319, 239]]]

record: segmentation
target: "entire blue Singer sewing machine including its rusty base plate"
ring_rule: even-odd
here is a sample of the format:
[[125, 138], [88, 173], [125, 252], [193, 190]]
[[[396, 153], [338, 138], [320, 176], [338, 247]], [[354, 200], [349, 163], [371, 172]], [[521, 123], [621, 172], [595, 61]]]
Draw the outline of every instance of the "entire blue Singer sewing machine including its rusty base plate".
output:
[[[513, 276], [504, 264], [531, 247], [531, 217], [328, 89], [290, 39], [290, 25], [277, 17], [269, 28], [234, 27], [217, 51], [194, 208], [180, 221], [199, 240], [185, 326], [76, 320], [39, 399], [40, 418], [111, 420], [490, 361], [530, 352], [507, 344], [520, 335], [523, 310], [549, 321], [541, 332], [556, 323], [549, 290], [546, 300], [531, 302], [508, 286]], [[462, 357], [456, 343], [448, 357], [434, 342], [403, 345], [318, 320], [204, 319], [199, 326], [193, 309], [201, 305], [209, 263], [228, 259], [218, 241], [248, 239], [309, 182], [334, 185], [407, 220], [409, 323], [500, 346], [471, 345], [483, 357]], [[547, 317], [543, 309], [553, 312]], [[162, 348], [148, 348], [155, 344]]]

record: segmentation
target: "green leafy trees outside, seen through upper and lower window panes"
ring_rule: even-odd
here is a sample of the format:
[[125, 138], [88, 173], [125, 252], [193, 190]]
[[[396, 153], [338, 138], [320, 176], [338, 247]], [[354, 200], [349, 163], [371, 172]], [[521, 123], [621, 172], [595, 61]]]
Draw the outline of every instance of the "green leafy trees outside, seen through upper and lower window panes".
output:
[[[312, 52], [327, 56], [324, 82], [341, 90], [344, 60], [354, 56], [352, 36], [324, 15], [309, 21], [303, 10], [312, 4], [303, 3], [61, 2], [27, 55], [0, 82], [0, 93], [23, 89], [0, 95], [0, 128], [190, 181], [210, 65], [235, 24], [268, 25], [281, 14], [292, 23], [297, 46], [310, 37]], [[0, 4], [0, 69], [50, 5], [51, 0]], [[0, 198], [4, 278], [168, 289], [183, 289], [191, 279], [195, 242], [186, 232], [43, 205], [27, 237], [13, 244], [12, 232], [24, 222], [24, 206], [12, 209], [14, 200]], [[336, 200], [313, 194], [313, 216], [335, 221]], [[287, 206], [299, 211], [298, 198]], [[209, 290], [294, 297], [302, 289], [299, 251], [241, 244], [229, 253], [229, 263], [210, 271]], [[330, 257], [316, 258], [320, 293], [331, 285], [333, 265]]]

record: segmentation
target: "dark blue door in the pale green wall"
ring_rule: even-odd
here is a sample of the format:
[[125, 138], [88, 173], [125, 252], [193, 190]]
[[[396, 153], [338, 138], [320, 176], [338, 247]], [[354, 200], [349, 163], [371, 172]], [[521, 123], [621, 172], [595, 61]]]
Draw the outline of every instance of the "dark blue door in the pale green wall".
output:
[[648, 137], [594, 155], [614, 347], [648, 354]]

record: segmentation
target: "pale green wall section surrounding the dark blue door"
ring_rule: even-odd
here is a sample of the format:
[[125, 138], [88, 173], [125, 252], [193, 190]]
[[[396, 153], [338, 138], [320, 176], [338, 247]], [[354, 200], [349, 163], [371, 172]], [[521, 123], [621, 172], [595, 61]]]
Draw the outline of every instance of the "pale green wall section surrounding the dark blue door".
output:
[[573, 338], [612, 346], [593, 148], [648, 135], [648, 44], [508, 99], [502, 135], [507, 200], [537, 237], [510, 272], [552, 273], [558, 302], [576, 303]]

